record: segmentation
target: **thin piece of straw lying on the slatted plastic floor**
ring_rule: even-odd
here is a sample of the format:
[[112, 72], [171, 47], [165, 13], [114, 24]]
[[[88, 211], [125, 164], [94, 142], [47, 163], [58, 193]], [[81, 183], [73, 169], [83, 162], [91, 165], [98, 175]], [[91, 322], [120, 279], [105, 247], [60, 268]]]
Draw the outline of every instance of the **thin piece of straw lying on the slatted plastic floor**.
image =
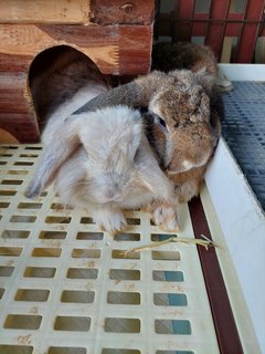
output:
[[162, 244], [167, 244], [170, 242], [181, 242], [184, 244], [198, 244], [198, 246], [202, 246], [204, 247], [206, 250], [209, 249], [209, 247], [219, 247], [216, 243], [214, 243], [212, 240], [210, 240], [209, 238], [206, 238], [204, 235], [201, 235], [201, 237], [203, 239], [190, 239], [190, 238], [181, 238], [181, 237], [170, 237], [167, 240], [163, 241], [155, 241], [148, 244], [144, 244], [140, 247], [135, 247], [131, 248], [125, 252], [123, 252], [124, 257], [128, 257], [130, 254], [134, 253], [139, 253], [139, 252], [144, 252], [144, 251], [149, 251], [152, 248], [157, 248], [160, 247]]

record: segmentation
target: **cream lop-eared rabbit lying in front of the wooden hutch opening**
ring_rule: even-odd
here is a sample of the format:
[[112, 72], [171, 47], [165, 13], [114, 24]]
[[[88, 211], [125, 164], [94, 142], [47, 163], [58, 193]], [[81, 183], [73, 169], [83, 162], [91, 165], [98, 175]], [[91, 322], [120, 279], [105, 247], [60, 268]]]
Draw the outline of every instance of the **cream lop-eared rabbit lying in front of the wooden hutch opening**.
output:
[[86, 83], [50, 116], [43, 133], [43, 158], [26, 190], [32, 198], [52, 181], [63, 202], [87, 210], [103, 229], [123, 230], [123, 209], [156, 201], [153, 219], [178, 229], [172, 185], [145, 136], [140, 113], [126, 106], [71, 113], [106, 90]]

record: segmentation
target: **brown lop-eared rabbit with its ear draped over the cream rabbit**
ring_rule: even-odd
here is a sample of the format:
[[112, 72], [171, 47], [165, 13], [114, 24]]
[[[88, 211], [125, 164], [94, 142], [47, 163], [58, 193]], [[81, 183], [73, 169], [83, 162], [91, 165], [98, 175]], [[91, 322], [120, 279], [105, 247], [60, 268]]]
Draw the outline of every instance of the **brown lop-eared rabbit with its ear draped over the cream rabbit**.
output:
[[148, 106], [148, 122], [151, 116], [153, 122], [148, 125], [149, 142], [173, 180], [180, 201], [199, 194], [221, 134], [223, 115], [222, 100], [214, 87], [216, 63], [212, 52], [200, 52], [198, 46], [194, 50], [193, 44], [186, 50], [193, 53], [186, 55], [190, 70], [167, 74], [153, 71], [97, 96], [77, 111], [117, 104]]

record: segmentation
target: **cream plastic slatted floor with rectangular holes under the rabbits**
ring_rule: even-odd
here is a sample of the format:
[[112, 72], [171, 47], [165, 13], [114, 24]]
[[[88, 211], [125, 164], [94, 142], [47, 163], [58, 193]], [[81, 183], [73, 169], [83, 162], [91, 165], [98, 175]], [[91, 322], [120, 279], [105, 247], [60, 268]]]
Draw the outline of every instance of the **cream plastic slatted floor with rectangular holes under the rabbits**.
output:
[[[40, 154], [40, 145], [1, 148], [0, 353], [219, 353], [197, 248], [125, 259], [167, 235], [130, 211], [126, 233], [112, 238], [51, 188], [26, 199]], [[180, 219], [179, 236], [192, 238], [187, 205]]]

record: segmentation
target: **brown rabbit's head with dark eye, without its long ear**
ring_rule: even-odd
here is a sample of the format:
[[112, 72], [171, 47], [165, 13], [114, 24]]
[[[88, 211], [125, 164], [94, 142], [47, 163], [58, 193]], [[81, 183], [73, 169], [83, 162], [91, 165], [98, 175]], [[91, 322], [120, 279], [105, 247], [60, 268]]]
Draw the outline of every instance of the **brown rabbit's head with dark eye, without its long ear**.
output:
[[213, 76], [204, 70], [173, 71], [169, 75], [174, 82], [158, 90], [148, 111], [153, 117], [153, 145], [162, 165], [170, 165], [176, 173], [204, 165], [216, 144], [208, 94]]

